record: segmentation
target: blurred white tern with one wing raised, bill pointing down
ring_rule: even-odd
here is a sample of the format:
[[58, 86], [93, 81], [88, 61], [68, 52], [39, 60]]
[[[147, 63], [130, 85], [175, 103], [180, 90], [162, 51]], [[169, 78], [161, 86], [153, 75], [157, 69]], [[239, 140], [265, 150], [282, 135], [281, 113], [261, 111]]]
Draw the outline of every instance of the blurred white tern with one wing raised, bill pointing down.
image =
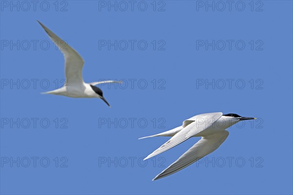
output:
[[50, 31], [45, 25], [43, 25], [39, 20], [37, 21], [39, 24], [41, 24], [42, 28], [48, 34], [50, 39], [61, 50], [65, 59], [66, 81], [64, 86], [60, 89], [44, 92], [44, 94], [62, 95], [71, 98], [101, 98], [110, 107], [109, 103], [103, 96], [102, 90], [95, 85], [114, 82], [121, 83], [121, 81], [103, 80], [85, 83], [82, 76], [82, 69], [84, 66], [83, 58], [73, 48], [71, 48], [62, 39]]

